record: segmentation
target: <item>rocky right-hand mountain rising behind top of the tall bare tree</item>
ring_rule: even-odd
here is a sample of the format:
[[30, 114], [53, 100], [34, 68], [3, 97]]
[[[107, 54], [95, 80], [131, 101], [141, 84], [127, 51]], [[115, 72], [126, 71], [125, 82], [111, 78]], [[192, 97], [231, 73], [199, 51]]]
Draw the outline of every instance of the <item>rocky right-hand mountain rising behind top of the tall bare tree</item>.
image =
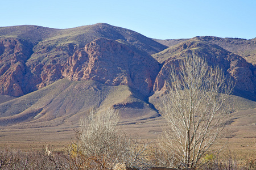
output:
[[230, 75], [236, 80], [235, 88], [237, 90], [255, 91], [256, 76], [254, 71], [255, 67], [253, 65], [247, 63], [242, 57], [222, 49], [220, 46], [208, 44], [198, 38], [185, 41], [164, 50], [164, 53], [160, 52], [155, 55], [159, 61], [161, 61], [162, 58], [166, 58], [166, 56], [169, 56], [169, 58], [162, 63], [162, 69], [156, 77], [154, 91], [165, 90], [168, 70], [170, 70], [171, 65], [175, 65], [176, 62], [179, 62], [179, 58], [192, 55], [192, 53], [197, 56], [203, 56], [211, 66], [220, 65], [222, 70], [225, 71], [225, 74]]

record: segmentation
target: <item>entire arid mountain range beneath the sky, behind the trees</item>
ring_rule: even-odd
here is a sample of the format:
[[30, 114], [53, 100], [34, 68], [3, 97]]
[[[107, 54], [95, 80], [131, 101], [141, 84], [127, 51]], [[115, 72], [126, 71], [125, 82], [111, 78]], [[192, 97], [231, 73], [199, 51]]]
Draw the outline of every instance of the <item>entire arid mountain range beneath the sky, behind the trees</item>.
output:
[[0, 126], [77, 124], [93, 107], [122, 120], [158, 117], [168, 70], [195, 54], [236, 81], [234, 110], [255, 108], [256, 38], [157, 40], [98, 23], [70, 29], [0, 27]]

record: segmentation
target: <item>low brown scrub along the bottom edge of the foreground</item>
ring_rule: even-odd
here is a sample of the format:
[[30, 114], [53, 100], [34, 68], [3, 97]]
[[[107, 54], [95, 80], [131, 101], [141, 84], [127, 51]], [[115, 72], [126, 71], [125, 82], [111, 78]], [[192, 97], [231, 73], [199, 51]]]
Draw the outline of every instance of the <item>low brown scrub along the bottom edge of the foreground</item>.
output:
[[[131, 145], [130, 147], [135, 148], [137, 151], [141, 151], [141, 149], [144, 148], [143, 143], [135, 142], [134, 144], [136, 147], [134, 147], [134, 145]], [[92, 164], [97, 160], [96, 157], [87, 158], [82, 155], [81, 152], [76, 150], [77, 146], [74, 144], [71, 148], [71, 150], [66, 150], [65, 152], [52, 151], [51, 148], [47, 150], [48, 152], [46, 152], [45, 148], [43, 150], [30, 152], [11, 150], [7, 147], [0, 148], [0, 169], [104, 169], [97, 168], [95, 167], [95, 164]], [[143, 168], [141, 164], [141, 168], [137, 166], [137, 168], [132, 168], [134, 170], [138, 168], [148, 170], [151, 169], [150, 167], [164, 167], [163, 163], [171, 161], [168, 152], [162, 152], [163, 150], [159, 150], [159, 148], [147, 147], [146, 151], [142, 151], [143, 154], [139, 155], [139, 157], [147, 160], [147, 166], [144, 166]], [[139, 153], [140, 152], [137, 152], [137, 154]], [[214, 156], [213, 159], [212, 155], [207, 155], [207, 158], [209, 158], [209, 162], [204, 164], [200, 169], [253, 170], [256, 168], [255, 157], [249, 158], [243, 163], [238, 163], [236, 154], [233, 154], [230, 151], [226, 152], [226, 154]], [[166, 162], [161, 162], [163, 160]], [[104, 162], [103, 160], [99, 161], [101, 161], [101, 163]]]

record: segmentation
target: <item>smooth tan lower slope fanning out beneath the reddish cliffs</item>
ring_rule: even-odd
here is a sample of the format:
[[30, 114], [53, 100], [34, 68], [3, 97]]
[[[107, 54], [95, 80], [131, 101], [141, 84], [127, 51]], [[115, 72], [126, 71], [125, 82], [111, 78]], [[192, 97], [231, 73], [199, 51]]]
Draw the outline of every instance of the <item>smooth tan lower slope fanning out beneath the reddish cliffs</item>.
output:
[[28, 95], [0, 104], [0, 126], [19, 128], [78, 124], [93, 107], [114, 107], [122, 118], [155, 117], [158, 113], [128, 86], [106, 86], [93, 80], [61, 79]]

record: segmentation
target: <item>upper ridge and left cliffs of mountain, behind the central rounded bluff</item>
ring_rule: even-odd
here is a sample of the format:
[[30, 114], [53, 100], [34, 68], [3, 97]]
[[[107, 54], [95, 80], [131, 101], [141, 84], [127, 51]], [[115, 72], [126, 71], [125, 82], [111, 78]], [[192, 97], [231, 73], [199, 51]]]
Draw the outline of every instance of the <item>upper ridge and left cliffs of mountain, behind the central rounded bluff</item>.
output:
[[0, 28], [0, 94], [22, 96], [63, 77], [69, 57], [98, 38], [117, 40], [140, 55], [166, 46], [129, 29], [95, 24], [71, 29], [33, 25]]

